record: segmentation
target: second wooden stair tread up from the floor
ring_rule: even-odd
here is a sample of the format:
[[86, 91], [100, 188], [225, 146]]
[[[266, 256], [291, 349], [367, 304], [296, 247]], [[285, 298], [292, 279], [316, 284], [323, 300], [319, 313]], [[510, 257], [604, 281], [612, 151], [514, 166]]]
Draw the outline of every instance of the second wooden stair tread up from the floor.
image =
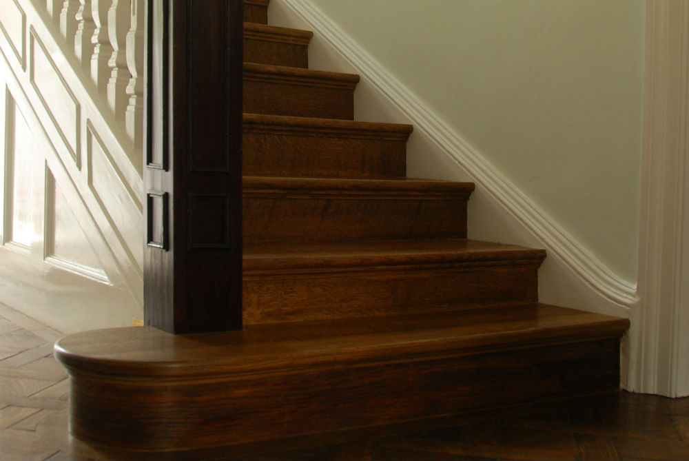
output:
[[245, 245], [243, 267], [251, 270], [451, 265], [468, 263], [540, 262], [543, 249], [468, 238], [371, 240], [326, 243], [261, 243]]

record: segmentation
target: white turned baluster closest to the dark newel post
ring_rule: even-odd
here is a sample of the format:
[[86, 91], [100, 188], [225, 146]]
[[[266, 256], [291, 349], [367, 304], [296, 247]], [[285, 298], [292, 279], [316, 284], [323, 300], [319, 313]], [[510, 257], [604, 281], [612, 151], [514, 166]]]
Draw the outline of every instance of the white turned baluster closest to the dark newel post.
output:
[[143, 148], [143, 17], [144, 0], [132, 0], [131, 28], [127, 32], [127, 67], [132, 78], [127, 84], [129, 103], [125, 114], [127, 134], [135, 147]]

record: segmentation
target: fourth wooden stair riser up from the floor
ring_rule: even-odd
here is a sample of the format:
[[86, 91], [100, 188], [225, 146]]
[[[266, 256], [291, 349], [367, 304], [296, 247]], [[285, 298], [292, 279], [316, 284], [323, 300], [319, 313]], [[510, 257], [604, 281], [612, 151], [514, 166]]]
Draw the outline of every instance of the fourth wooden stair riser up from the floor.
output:
[[407, 142], [398, 140], [256, 132], [245, 125], [243, 153], [247, 176], [399, 178], [407, 173]]

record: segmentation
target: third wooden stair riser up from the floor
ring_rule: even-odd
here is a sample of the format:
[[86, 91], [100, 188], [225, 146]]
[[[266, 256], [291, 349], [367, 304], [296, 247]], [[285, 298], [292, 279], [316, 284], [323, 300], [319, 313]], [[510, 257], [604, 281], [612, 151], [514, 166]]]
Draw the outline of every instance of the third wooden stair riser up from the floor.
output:
[[450, 198], [338, 198], [315, 194], [243, 198], [245, 243], [465, 238], [466, 201]]

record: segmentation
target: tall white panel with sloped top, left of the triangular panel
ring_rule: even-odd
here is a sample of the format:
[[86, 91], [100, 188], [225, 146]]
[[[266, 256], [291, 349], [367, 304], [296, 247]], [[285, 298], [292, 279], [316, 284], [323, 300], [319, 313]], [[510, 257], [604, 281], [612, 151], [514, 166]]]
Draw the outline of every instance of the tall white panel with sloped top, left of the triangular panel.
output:
[[14, 101], [10, 99], [12, 109], [7, 126], [10, 127], [6, 146], [6, 155], [12, 160], [12, 215], [10, 236], [12, 243], [29, 249], [34, 243], [40, 243], [43, 236], [43, 194], [44, 164], [43, 156], [34, 141], [28, 124]]

